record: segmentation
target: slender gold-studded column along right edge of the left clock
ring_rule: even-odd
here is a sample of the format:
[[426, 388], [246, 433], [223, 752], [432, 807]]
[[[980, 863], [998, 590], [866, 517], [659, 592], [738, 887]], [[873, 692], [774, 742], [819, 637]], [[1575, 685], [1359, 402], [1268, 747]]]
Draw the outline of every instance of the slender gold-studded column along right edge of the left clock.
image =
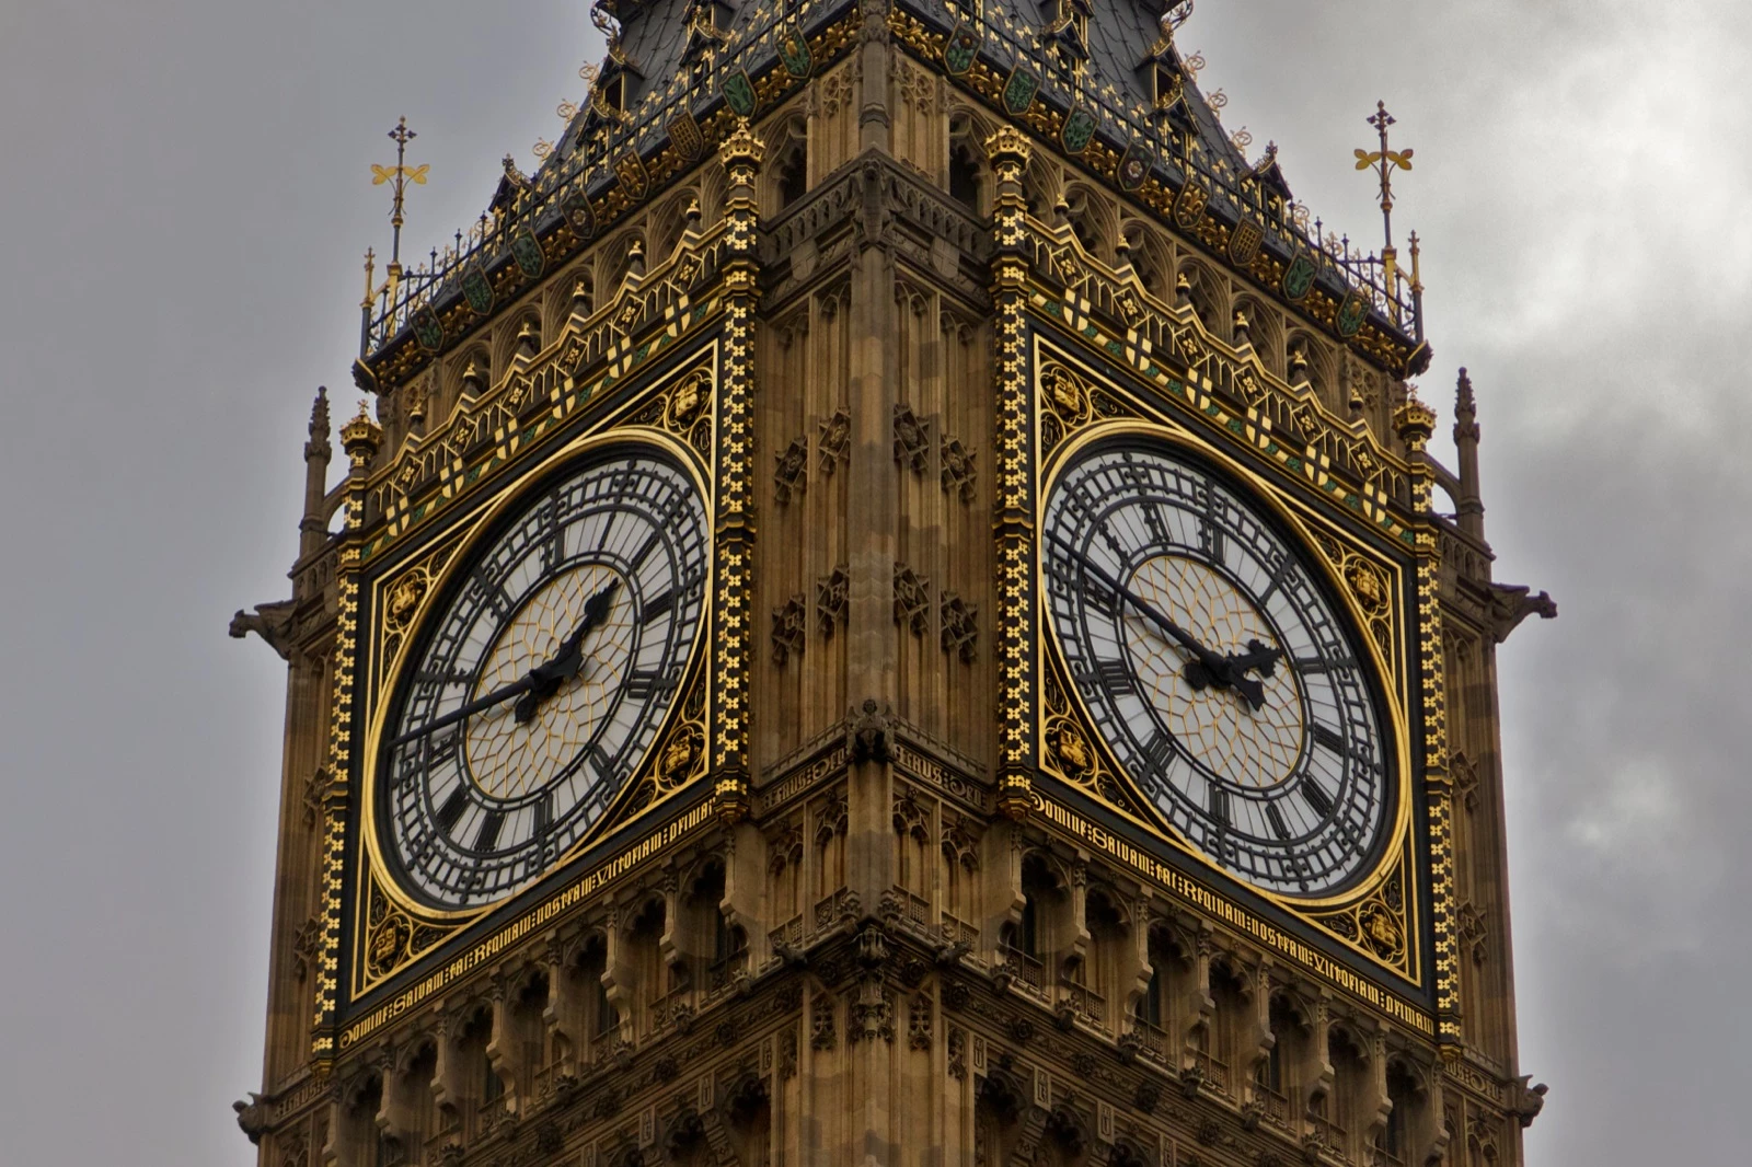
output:
[[729, 179], [724, 203], [724, 359], [718, 371], [713, 517], [713, 804], [725, 822], [748, 815], [748, 671], [753, 645], [753, 329], [760, 265], [755, 177], [764, 149], [748, 123], [718, 147]]

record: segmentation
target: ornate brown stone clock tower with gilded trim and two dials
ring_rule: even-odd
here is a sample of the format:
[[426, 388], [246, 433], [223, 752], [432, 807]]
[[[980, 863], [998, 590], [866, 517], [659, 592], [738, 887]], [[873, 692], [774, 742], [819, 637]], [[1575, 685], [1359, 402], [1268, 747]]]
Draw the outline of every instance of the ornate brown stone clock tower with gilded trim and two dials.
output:
[[265, 1167], [1522, 1162], [1556, 610], [1465, 373], [1426, 450], [1416, 240], [1309, 228], [1190, 7], [599, 0], [557, 147], [371, 284], [233, 624]]

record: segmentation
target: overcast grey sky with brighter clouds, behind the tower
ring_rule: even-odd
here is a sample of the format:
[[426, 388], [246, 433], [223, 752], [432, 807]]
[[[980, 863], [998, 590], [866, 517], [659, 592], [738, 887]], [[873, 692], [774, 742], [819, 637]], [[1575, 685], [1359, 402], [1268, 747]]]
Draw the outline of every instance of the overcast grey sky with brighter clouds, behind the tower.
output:
[[[1752, 7], [1204, 0], [1181, 42], [1354, 240], [1388, 100], [1423, 394], [1445, 431], [1472, 368], [1498, 578], [1563, 610], [1501, 654], [1529, 1163], [1743, 1162]], [[443, 244], [599, 51], [583, 0], [0, 0], [0, 1160], [254, 1162], [284, 671], [226, 620], [356, 396], [384, 133]]]

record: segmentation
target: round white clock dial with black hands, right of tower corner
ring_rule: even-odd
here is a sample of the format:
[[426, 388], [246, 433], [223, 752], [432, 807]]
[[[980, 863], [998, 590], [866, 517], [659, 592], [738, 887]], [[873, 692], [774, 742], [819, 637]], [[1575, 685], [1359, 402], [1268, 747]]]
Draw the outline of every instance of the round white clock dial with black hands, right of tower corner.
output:
[[1281, 524], [1176, 447], [1127, 438], [1058, 475], [1042, 534], [1072, 683], [1169, 822], [1274, 892], [1363, 874], [1391, 801], [1367, 657]]

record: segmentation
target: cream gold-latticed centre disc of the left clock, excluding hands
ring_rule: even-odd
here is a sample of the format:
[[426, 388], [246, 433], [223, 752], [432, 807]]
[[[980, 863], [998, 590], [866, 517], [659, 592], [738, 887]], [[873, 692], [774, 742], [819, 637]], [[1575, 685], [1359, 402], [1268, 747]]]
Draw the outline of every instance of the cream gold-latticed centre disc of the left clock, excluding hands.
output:
[[632, 603], [627, 599], [632, 589], [610, 566], [575, 568], [534, 596], [499, 634], [482, 666], [478, 687], [484, 692], [503, 689], [552, 661], [583, 620], [585, 605], [610, 584], [613, 608], [585, 641], [583, 662], [571, 685], [524, 724], [510, 704], [470, 718], [463, 750], [470, 776], [487, 797], [520, 799], [545, 787], [597, 736], [632, 657]]

